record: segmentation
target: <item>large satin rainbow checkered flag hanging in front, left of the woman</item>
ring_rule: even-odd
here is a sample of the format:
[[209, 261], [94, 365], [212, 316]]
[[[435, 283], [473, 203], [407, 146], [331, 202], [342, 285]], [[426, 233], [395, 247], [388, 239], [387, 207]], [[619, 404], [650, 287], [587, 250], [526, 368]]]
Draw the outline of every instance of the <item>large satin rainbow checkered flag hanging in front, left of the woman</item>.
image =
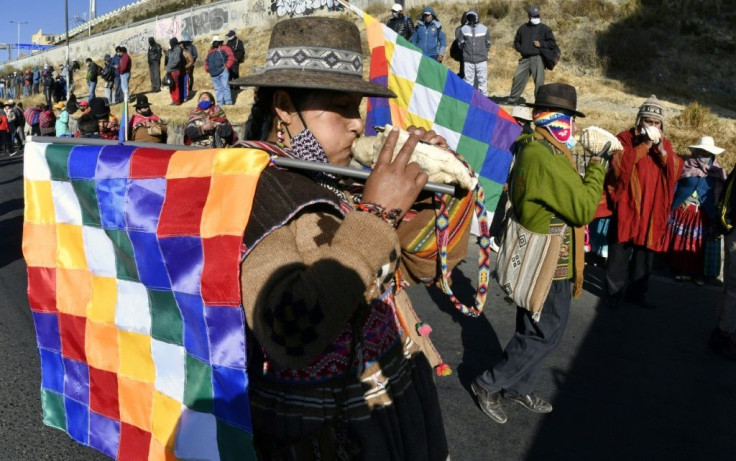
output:
[[43, 421], [119, 460], [253, 460], [239, 264], [268, 155], [25, 148]]

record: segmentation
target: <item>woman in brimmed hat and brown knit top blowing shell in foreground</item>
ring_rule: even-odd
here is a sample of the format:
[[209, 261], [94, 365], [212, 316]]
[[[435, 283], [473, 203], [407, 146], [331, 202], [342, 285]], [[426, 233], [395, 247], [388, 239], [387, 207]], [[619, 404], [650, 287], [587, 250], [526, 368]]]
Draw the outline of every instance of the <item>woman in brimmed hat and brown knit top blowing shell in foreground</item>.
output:
[[[258, 87], [245, 144], [347, 166], [362, 98], [395, 96], [362, 72], [354, 24], [277, 23], [265, 69], [232, 82]], [[431, 368], [394, 314], [408, 302], [394, 296], [395, 226], [427, 181], [409, 158], [420, 139], [444, 144], [410, 132], [393, 161], [398, 132], [388, 136], [359, 202], [327, 173], [259, 179], [241, 266], [259, 459], [448, 457]]]

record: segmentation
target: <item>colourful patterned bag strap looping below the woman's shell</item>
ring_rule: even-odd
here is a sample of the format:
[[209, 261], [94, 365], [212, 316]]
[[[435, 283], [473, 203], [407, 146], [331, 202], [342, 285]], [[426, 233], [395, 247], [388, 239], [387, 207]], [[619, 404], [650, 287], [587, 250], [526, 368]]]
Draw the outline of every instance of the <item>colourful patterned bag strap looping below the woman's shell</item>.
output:
[[435, 194], [435, 232], [437, 234], [437, 250], [440, 256], [440, 272], [442, 277], [437, 285], [449, 296], [455, 307], [464, 315], [469, 317], [478, 317], [483, 312], [483, 306], [486, 303], [488, 295], [488, 281], [491, 274], [491, 235], [490, 226], [488, 224], [488, 214], [486, 213], [485, 193], [480, 182], [475, 187], [475, 215], [478, 218], [478, 227], [480, 236], [478, 237], [478, 288], [475, 293], [475, 304], [468, 307], [463, 304], [450, 288], [450, 273], [447, 270], [447, 247], [450, 239], [449, 223], [450, 218], [447, 213], [447, 201], [443, 194]]

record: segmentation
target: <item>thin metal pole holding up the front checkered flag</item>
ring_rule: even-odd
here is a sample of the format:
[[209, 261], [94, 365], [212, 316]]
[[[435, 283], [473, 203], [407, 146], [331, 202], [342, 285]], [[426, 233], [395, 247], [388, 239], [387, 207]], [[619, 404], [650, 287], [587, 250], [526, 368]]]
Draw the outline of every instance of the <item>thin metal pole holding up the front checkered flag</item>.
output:
[[[198, 150], [197, 146], [182, 146], [179, 144], [158, 144], [155, 142], [136, 142], [136, 141], [111, 141], [99, 138], [56, 138], [54, 136], [31, 136], [29, 141], [50, 144], [74, 144], [78, 146], [132, 146], [132, 147], [148, 147], [152, 149], [169, 149], [169, 150]], [[271, 157], [274, 165], [282, 168], [297, 168], [308, 171], [322, 171], [325, 173], [333, 173], [339, 176], [354, 179], [366, 179], [371, 174], [368, 170], [358, 170], [357, 168], [349, 168], [337, 166], [331, 163], [308, 162], [295, 158]], [[428, 192], [439, 192], [440, 194], [455, 195], [458, 189], [451, 184], [439, 184], [428, 182], [424, 186], [424, 190]]]

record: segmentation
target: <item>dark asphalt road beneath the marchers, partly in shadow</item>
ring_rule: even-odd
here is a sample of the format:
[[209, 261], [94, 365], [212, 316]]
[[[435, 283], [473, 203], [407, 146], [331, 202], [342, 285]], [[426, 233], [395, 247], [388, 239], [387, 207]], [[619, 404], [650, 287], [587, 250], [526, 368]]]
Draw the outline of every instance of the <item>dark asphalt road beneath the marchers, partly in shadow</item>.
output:
[[[108, 459], [42, 423], [20, 250], [22, 189], [22, 157], [0, 158], [0, 461]], [[453, 285], [468, 300], [464, 274], [475, 278], [475, 251], [471, 246]], [[478, 409], [469, 385], [501, 356], [515, 308], [496, 285], [477, 319], [463, 317], [434, 289], [410, 289], [455, 371], [436, 380], [453, 460], [736, 459], [736, 363], [706, 346], [719, 289], [679, 284], [660, 271], [651, 282], [658, 309], [612, 311], [599, 305], [601, 276], [589, 266], [565, 338], [539, 377], [538, 393], [554, 412], [506, 403], [505, 425]]]

